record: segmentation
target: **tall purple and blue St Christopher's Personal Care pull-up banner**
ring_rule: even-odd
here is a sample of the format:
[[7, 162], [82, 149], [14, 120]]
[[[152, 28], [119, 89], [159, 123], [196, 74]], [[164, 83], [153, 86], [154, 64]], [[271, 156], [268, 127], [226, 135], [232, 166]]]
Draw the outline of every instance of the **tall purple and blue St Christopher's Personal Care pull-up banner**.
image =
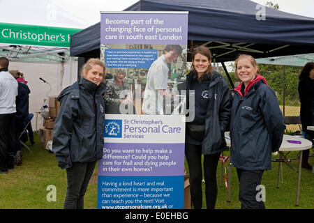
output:
[[184, 207], [187, 12], [102, 13], [105, 61], [98, 208]]

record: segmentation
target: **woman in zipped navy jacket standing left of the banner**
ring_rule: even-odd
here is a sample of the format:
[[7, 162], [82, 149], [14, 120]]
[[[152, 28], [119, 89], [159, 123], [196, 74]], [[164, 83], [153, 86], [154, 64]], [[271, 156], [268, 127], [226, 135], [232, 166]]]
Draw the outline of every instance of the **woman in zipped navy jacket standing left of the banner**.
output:
[[103, 157], [105, 123], [105, 63], [89, 59], [81, 79], [59, 94], [60, 109], [54, 123], [52, 151], [66, 169], [65, 209], [84, 208], [84, 194], [97, 160]]

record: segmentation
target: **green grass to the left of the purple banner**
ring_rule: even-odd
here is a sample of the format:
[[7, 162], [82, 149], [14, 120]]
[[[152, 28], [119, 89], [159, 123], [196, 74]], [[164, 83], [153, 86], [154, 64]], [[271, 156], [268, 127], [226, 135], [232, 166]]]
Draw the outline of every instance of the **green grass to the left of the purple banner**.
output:
[[[40, 148], [38, 134], [35, 144], [27, 142], [32, 153], [24, 151], [23, 163], [0, 174], [0, 209], [62, 209], [66, 196], [66, 171], [60, 169], [53, 153]], [[95, 169], [95, 172], [97, 168]], [[57, 201], [47, 201], [48, 185], [57, 189]], [[97, 208], [97, 183], [90, 184], [84, 199], [84, 208]]]

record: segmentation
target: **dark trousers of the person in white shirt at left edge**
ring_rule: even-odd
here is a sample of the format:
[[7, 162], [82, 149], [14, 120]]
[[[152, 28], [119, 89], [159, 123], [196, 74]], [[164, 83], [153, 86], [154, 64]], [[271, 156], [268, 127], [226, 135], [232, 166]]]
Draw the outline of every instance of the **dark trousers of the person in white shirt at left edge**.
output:
[[7, 171], [14, 167], [15, 113], [0, 114], [0, 169]]

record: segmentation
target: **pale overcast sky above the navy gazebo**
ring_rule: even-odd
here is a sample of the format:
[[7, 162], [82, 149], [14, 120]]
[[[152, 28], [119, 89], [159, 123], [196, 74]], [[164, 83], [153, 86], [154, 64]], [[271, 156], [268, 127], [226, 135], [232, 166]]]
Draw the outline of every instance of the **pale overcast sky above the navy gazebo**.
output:
[[[100, 11], [121, 11], [138, 0], [50, 0], [57, 6], [75, 13], [77, 17], [89, 20], [91, 24], [100, 22]], [[158, 1], [158, 0], [156, 0]], [[191, 0], [193, 2], [193, 0]], [[236, 2], [237, 0], [234, 0]], [[278, 3], [279, 10], [307, 17], [314, 17], [314, 0], [253, 0], [265, 5], [267, 1]]]

